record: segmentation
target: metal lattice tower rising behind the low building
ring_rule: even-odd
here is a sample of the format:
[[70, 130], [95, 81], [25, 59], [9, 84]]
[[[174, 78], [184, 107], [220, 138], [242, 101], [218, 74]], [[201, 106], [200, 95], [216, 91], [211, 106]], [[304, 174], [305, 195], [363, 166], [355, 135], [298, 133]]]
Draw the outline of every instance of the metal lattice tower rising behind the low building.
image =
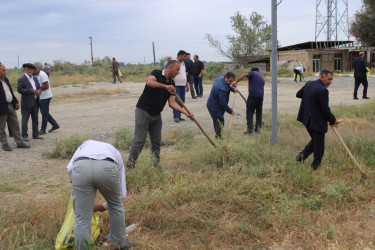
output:
[[322, 32], [327, 41], [338, 41], [341, 32], [349, 41], [348, 1], [316, 0], [315, 41]]

